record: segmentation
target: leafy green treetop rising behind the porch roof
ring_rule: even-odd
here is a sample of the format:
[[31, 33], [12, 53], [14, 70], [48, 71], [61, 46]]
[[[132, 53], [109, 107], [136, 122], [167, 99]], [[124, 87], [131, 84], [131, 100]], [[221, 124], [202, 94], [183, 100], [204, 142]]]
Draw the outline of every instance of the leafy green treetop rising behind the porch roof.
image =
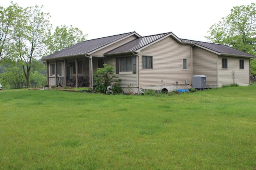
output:
[[57, 26], [53, 34], [51, 32], [48, 33], [48, 38], [46, 39], [48, 53], [46, 55], [80, 43], [86, 40], [86, 37], [87, 34], [84, 35], [80, 29], [74, 28], [72, 25], [70, 25], [70, 28], [66, 25]]

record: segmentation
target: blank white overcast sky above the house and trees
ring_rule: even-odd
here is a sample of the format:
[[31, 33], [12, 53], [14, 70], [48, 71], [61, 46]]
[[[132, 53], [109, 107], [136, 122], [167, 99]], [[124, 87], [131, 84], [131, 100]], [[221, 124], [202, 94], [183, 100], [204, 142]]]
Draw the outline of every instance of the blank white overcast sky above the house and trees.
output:
[[183, 39], [207, 41], [214, 24], [234, 6], [256, 0], [0, 0], [7, 8], [13, 1], [21, 7], [43, 5], [53, 28], [73, 25], [95, 39], [136, 31], [141, 36], [172, 31]]

